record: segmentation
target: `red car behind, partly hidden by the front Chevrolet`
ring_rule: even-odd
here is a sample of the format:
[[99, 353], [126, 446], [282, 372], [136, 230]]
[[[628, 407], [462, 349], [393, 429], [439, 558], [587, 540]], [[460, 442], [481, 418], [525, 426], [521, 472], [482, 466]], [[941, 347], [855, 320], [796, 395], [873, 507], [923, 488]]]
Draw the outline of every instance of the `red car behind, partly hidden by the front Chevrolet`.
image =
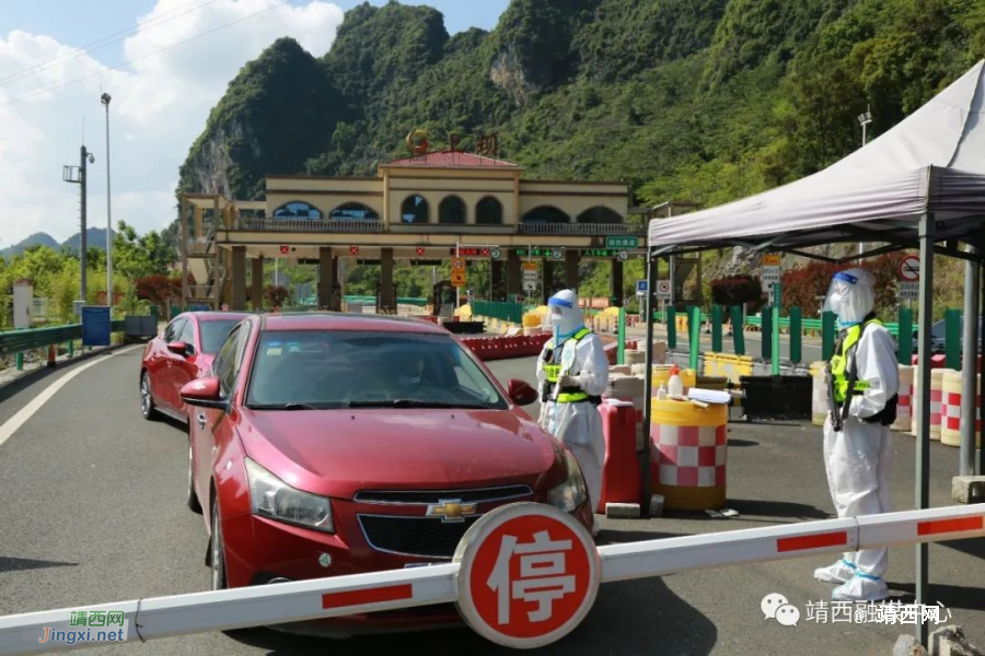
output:
[[188, 422], [181, 390], [207, 374], [229, 331], [245, 313], [186, 312], [147, 343], [140, 363], [140, 411], [144, 419], [166, 414]]

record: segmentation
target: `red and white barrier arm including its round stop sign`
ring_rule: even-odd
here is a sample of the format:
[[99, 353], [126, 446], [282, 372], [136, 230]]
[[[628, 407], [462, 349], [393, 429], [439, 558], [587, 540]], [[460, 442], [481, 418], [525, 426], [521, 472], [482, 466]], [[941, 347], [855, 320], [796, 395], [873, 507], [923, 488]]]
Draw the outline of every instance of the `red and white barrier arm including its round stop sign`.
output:
[[468, 529], [451, 564], [0, 617], [0, 655], [105, 644], [42, 642], [72, 631], [82, 612], [123, 613], [124, 635], [114, 642], [146, 642], [451, 601], [485, 637], [533, 647], [577, 626], [600, 583], [982, 536], [980, 504], [596, 548], [570, 515], [544, 504], [510, 504]]

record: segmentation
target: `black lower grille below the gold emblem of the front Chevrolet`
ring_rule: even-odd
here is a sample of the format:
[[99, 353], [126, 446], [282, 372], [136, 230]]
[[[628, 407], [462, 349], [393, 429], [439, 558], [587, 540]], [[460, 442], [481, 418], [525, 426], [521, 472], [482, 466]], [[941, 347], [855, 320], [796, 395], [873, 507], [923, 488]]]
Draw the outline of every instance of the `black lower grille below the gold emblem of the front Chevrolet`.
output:
[[439, 517], [359, 515], [367, 542], [376, 551], [402, 555], [451, 559], [468, 527], [479, 516], [464, 522], [442, 522]]

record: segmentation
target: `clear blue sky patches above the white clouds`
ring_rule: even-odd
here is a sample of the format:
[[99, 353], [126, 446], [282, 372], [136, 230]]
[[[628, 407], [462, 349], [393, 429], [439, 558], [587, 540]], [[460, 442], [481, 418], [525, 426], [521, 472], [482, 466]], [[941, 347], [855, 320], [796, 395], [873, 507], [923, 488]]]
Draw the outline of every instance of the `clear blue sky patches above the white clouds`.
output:
[[[209, 0], [187, 0], [190, 7]], [[332, 0], [343, 11], [361, 4], [364, 0]], [[382, 5], [390, 0], [370, 0], [370, 4]], [[308, 0], [292, 0], [291, 4], [306, 4]], [[482, 27], [493, 30], [500, 14], [506, 11], [509, 0], [402, 0], [403, 4], [427, 4], [444, 14], [444, 24], [451, 34]], [[273, 0], [271, 0], [273, 3]], [[124, 32], [137, 23], [137, 19], [149, 13], [157, 0], [2, 0], [0, 11], [0, 36], [12, 30], [23, 30], [33, 34], [44, 34], [59, 43], [82, 47], [111, 34]], [[184, 4], [184, 3], [183, 3]], [[124, 35], [120, 35], [124, 36]], [[113, 66], [124, 59], [123, 45], [116, 43], [93, 50], [93, 58]], [[315, 55], [321, 55], [316, 52]], [[0, 71], [0, 75], [3, 71]]]

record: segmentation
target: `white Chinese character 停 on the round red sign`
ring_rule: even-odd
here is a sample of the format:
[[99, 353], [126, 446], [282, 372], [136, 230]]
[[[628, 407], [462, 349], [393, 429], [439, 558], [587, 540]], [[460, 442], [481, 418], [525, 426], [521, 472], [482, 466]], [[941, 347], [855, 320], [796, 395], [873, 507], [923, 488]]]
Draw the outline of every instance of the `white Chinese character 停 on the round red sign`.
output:
[[[534, 541], [518, 544], [514, 536], [505, 536], [496, 565], [486, 585], [497, 593], [498, 621], [510, 623], [510, 601], [535, 601], [537, 608], [529, 611], [532, 622], [551, 618], [556, 599], [575, 591], [575, 576], [566, 575], [565, 551], [570, 551], [571, 540], [552, 541], [547, 531], [534, 534]], [[510, 579], [510, 562], [520, 557], [520, 579]]]

